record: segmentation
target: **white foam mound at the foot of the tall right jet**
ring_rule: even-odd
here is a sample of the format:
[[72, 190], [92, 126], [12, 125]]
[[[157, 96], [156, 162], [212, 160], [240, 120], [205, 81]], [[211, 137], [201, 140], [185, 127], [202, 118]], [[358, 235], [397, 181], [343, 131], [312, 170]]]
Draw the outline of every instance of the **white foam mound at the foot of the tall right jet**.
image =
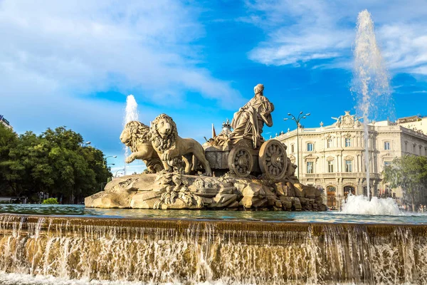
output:
[[371, 214], [384, 216], [404, 215], [394, 199], [369, 199], [363, 195], [348, 195], [347, 202], [342, 202], [342, 214]]

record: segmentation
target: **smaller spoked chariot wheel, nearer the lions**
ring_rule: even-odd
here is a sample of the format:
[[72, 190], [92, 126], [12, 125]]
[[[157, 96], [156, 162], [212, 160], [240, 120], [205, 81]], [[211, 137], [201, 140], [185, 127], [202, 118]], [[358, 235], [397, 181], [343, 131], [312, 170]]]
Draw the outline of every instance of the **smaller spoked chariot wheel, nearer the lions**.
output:
[[253, 157], [248, 147], [236, 145], [228, 154], [228, 168], [238, 177], [247, 177], [253, 168]]

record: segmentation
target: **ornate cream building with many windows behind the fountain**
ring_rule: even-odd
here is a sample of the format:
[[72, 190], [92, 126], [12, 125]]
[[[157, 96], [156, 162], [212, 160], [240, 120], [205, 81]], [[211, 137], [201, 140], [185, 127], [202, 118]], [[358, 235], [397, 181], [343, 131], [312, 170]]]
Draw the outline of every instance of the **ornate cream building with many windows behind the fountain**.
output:
[[[329, 207], [337, 207], [349, 192], [367, 195], [364, 127], [349, 111], [334, 119], [332, 125], [300, 127], [276, 137], [288, 146], [300, 181], [324, 189]], [[427, 135], [389, 121], [371, 123], [368, 129], [369, 185], [371, 193], [378, 195], [387, 188], [381, 179], [384, 166], [406, 154], [427, 156]], [[401, 190], [394, 191], [396, 197], [402, 196]]]

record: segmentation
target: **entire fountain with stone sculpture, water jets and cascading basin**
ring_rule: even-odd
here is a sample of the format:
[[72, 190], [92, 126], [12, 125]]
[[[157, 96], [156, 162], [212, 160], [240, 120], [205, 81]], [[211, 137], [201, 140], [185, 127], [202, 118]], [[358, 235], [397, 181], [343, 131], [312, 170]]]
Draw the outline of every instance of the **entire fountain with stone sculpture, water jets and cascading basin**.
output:
[[[367, 11], [357, 43], [367, 123], [386, 87]], [[112, 180], [88, 207], [0, 204], [0, 284], [427, 284], [427, 216], [386, 213], [394, 202], [376, 197], [321, 211], [285, 145], [263, 139], [274, 110], [263, 86], [203, 145], [169, 115], [140, 123], [133, 96], [127, 107], [126, 160], [146, 172]]]

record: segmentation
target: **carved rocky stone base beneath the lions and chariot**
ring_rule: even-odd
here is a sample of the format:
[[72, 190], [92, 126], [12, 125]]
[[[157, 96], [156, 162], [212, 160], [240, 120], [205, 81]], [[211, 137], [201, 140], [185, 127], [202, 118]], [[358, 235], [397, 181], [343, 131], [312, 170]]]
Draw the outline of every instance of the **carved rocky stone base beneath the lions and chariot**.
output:
[[[86, 207], [132, 209], [271, 209], [325, 211], [320, 190], [253, 177], [204, 177], [161, 172], [115, 178], [85, 198]], [[298, 196], [298, 197], [295, 197]]]

